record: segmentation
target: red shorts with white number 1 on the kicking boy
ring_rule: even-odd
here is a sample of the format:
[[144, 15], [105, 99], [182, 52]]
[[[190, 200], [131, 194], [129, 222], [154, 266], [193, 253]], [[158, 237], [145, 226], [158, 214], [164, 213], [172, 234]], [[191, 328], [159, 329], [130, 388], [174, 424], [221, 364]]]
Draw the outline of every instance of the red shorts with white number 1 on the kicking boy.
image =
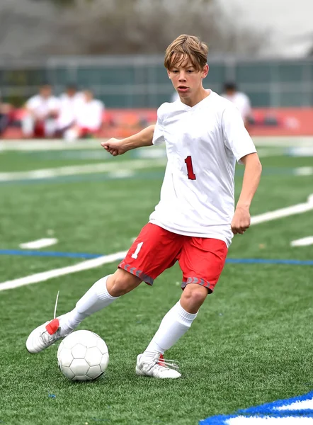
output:
[[178, 261], [183, 272], [182, 288], [199, 283], [212, 293], [226, 256], [227, 246], [220, 239], [184, 236], [148, 223], [119, 267], [152, 285], [157, 276]]

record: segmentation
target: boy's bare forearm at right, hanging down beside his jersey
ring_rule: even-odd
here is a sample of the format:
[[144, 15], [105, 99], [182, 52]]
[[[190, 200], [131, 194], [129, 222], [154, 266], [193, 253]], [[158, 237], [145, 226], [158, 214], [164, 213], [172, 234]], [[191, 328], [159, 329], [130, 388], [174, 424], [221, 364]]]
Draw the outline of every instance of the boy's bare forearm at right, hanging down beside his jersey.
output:
[[[254, 157], [252, 157], [254, 155]], [[241, 193], [237, 202], [237, 208], [250, 208], [254, 193], [258, 188], [261, 179], [262, 166], [257, 154], [251, 154], [251, 158], [246, 157], [244, 162], [244, 179], [242, 181]]]

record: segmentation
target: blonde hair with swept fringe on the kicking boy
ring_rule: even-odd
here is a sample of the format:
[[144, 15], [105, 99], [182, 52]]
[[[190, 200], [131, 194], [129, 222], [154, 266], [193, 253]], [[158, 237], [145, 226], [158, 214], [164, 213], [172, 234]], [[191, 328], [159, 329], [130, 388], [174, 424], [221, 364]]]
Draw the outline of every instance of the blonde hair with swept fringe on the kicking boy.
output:
[[207, 63], [207, 52], [207, 45], [200, 38], [195, 35], [179, 35], [165, 51], [164, 67], [171, 70], [185, 60], [190, 60], [195, 69], [203, 69]]

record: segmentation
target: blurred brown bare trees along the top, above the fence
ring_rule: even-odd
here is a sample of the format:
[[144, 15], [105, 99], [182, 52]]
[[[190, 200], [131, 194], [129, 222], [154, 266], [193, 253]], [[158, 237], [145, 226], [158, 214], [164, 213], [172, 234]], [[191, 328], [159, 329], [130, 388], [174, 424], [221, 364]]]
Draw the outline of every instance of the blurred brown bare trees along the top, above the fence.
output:
[[162, 53], [182, 33], [211, 53], [257, 55], [264, 41], [218, 0], [1, 0], [0, 21], [0, 56], [10, 57]]

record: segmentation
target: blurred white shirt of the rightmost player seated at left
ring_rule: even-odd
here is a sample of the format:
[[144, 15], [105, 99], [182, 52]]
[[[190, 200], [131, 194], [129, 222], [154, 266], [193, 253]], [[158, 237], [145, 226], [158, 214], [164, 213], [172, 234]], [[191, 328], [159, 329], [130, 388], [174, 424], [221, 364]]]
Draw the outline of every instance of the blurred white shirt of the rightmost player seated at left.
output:
[[101, 101], [93, 99], [90, 102], [82, 102], [77, 112], [76, 123], [81, 128], [98, 130], [103, 120], [104, 105]]

